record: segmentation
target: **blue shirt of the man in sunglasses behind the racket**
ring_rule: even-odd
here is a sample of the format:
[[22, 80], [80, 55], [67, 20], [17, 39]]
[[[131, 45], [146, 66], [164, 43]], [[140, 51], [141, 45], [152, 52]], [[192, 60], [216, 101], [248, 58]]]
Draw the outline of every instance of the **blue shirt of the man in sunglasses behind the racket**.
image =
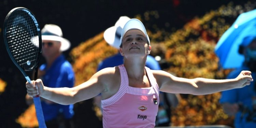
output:
[[[59, 56], [49, 69], [46, 69], [46, 64], [43, 64], [40, 66], [40, 70], [46, 71], [42, 76], [44, 86], [52, 88], [74, 86], [75, 78], [72, 66], [63, 55]], [[48, 104], [44, 101], [41, 104], [45, 121], [55, 119], [60, 113], [66, 119], [70, 119], [74, 115], [73, 104]]]

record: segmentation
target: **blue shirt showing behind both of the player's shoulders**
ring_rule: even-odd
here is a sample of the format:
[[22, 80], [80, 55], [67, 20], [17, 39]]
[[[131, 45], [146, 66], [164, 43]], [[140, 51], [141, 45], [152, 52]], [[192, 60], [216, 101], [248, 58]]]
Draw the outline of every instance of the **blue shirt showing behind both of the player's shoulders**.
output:
[[[123, 56], [118, 52], [117, 54], [106, 58], [102, 62], [99, 63], [97, 71], [100, 71], [104, 68], [115, 67], [118, 65], [122, 65], [124, 63]], [[153, 56], [147, 55], [146, 67], [151, 70], [161, 70], [159, 63], [155, 60]]]

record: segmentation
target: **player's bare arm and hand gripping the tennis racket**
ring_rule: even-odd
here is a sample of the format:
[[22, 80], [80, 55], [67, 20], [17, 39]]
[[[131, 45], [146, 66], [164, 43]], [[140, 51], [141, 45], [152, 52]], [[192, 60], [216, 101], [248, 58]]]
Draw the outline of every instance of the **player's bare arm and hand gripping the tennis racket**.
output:
[[28, 95], [33, 97], [39, 94], [40, 97], [53, 102], [67, 105], [90, 99], [105, 90], [108, 81], [109, 69], [101, 70], [94, 74], [87, 82], [73, 88], [49, 88], [43, 85], [41, 79], [26, 83]]

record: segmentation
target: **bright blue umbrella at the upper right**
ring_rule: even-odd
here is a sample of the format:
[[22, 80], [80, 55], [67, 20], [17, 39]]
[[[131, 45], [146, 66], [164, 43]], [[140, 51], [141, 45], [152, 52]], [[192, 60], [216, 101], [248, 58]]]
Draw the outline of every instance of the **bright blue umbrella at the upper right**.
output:
[[215, 54], [223, 69], [238, 68], [244, 56], [238, 53], [239, 45], [248, 45], [256, 37], [256, 9], [242, 13], [217, 42]]

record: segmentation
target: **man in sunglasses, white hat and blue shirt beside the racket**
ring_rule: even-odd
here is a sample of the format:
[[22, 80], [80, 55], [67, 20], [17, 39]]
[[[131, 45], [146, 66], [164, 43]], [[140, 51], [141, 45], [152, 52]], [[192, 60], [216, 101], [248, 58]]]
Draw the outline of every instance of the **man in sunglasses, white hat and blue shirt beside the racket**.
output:
[[[47, 87], [73, 87], [75, 80], [73, 68], [62, 54], [70, 47], [70, 42], [62, 38], [61, 28], [57, 25], [46, 24], [41, 32], [42, 56], [46, 63], [39, 67], [38, 77], [45, 82]], [[29, 104], [32, 98], [27, 95], [26, 99]], [[41, 104], [47, 128], [74, 127], [73, 104], [61, 105], [42, 97]]]

